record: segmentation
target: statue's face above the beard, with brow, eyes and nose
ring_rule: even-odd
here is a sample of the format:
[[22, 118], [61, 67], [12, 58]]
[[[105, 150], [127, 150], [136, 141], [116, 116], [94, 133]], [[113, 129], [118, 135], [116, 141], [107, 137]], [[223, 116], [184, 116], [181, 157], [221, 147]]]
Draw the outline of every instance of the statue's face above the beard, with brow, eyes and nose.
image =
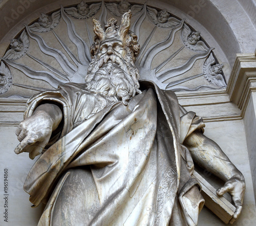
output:
[[119, 39], [104, 40], [100, 43], [99, 52], [97, 58], [101, 58], [103, 55], [117, 55], [119, 57], [125, 56], [126, 51], [123, 47], [123, 43]]

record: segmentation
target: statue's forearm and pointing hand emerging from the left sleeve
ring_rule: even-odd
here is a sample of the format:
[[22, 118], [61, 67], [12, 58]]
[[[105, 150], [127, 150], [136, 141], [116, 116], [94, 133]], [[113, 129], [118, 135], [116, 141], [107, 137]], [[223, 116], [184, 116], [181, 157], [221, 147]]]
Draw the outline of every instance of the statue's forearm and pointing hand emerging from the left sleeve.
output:
[[61, 119], [62, 112], [57, 105], [38, 106], [30, 117], [19, 123], [16, 135], [20, 143], [14, 152], [16, 154], [29, 152], [29, 157], [34, 159], [48, 144], [52, 132], [57, 129]]

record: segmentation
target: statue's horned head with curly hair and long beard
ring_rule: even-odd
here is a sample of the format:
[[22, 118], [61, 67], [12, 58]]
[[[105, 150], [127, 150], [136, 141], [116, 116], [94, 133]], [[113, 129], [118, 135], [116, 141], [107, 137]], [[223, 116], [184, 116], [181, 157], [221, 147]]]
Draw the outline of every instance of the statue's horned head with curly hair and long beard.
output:
[[117, 19], [110, 18], [102, 27], [93, 18], [94, 44], [91, 46], [92, 62], [85, 78], [88, 89], [109, 101], [121, 99], [124, 105], [139, 90], [139, 73], [135, 60], [140, 46], [137, 36], [130, 31], [131, 11]]

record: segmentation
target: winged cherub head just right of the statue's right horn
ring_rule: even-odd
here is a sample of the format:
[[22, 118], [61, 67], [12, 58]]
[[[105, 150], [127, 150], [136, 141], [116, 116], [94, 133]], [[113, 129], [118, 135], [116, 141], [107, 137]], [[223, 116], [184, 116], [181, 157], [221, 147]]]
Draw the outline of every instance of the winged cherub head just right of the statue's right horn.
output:
[[148, 6], [146, 9], [148, 18], [159, 28], [172, 28], [180, 23], [180, 20], [170, 16], [166, 9], [157, 11]]

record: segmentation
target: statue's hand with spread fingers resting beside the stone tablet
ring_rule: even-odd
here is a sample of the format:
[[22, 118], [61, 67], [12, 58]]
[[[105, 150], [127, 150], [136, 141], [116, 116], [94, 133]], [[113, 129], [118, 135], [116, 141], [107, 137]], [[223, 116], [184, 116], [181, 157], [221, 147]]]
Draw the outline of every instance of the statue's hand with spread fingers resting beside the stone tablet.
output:
[[218, 195], [223, 195], [226, 192], [228, 192], [231, 197], [232, 201], [234, 203], [234, 206], [236, 207], [236, 211], [233, 215], [233, 221], [238, 219], [239, 215], [242, 211], [242, 205], [243, 205], [243, 199], [244, 199], [244, 193], [245, 193], [245, 180], [242, 174], [233, 176], [231, 179], [229, 179], [225, 185], [219, 189], [217, 189]]

